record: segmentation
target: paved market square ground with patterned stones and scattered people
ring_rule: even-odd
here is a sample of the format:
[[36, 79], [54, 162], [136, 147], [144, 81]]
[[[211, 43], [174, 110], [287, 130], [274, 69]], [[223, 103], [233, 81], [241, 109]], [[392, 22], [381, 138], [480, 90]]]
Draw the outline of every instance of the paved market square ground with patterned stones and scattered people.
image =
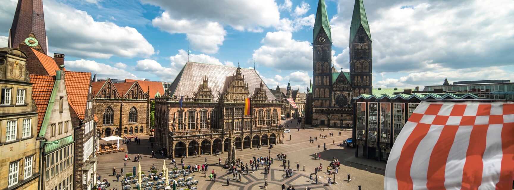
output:
[[[218, 159], [222, 158], [222, 163], [225, 162], [227, 154], [220, 154], [219, 156], [213, 155], [201, 155], [199, 157], [189, 157], [184, 159], [185, 165], [193, 165], [193, 164], [202, 164], [207, 158], [207, 163], [209, 164], [209, 172], [214, 169], [217, 173], [217, 179], [215, 182], [209, 181], [209, 177], [204, 177], [204, 173], [196, 172], [192, 174], [196, 180], [199, 180], [198, 189], [264, 189], [264, 179], [268, 179], [268, 189], [281, 189], [280, 186], [285, 184], [286, 187], [289, 185], [294, 186], [296, 189], [304, 189], [306, 186], [310, 186], [313, 189], [358, 189], [358, 185], [362, 185], [362, 189], [383, 189], [383, 180], [384, 180], [384, 170], [381, 169], [381, 166], [385, 166], [385, 162], [378, 162], [375, 160], [369, 160], [365, 158], [355, 158], [355, 149], [352, 147], [340, 147], [337, 146], [339, 143], [342, 143], [343, 140], [352, 137], [352, 131], [341, 131], [339, 130], [319, 130], [314, 128], [307, 127], [306, 129], [296, 129], [296, 120], [292, 122], [289, 121], [286, 125], [289, 124], [291, 128], [291, 132], [285, 135], [284, 144], [273, 145], [273, 148], [268, 149], [268, 147], [263, 146], [262, 149], [243, 149], [236, 151], [236, 157], [241, 158], [244, 163], [248, 163], [253, 156], [255, 157], [266, 157], [270, 155], [273, 159], [277, 158], [277, 154], [284, 153], [287, 154], [287, 159], [290, 160], [290, 166], [295, 171], [293, 172], [293, 176], [290, 178], [284, 178], [285, 172], [283, 172], [283, 166], [281, 163], [274, 161], [271, 164], [271, 172], [270, 174], [264, 175], [264, 170], [261, 168], [259, 171], [255, 173], [250, 173], [249, 175], [243, 175], [243, 179], [241, 182], [236, 182], [231, 180], [230, 185], [226, 186], [226, 178], [227, 173], [226, 170], [222, 169], [221, 165], [218, 165]], [[320, 139], [319, 135], [328, 135], [329, 132], [333, 132], [333, 137], [327, 137], [326, 139]], [[342, 135], [339, 136], [338, 132], [341, 132]], [[289, 140], [289, 135], [291, 135], [291, 140]], [[318, 137], [318, 141], [314, 143], [309, 143], [309, 137]], [[122, 153], [114, 153], [107, 155], [99, 155], [98, 156], [98, 174], [101, 175], [101, 178], [106, 178], [109, 182], [111, 182], [111, 187], [109, 188], [121, 188], [121, 184], [116, 182], [116, 178], [113, 174], [113, 167], [116, 167], [117, 173], [121, 172], [121, 168], [123, 167], [123, 163], [126, 163], [126, 173], [132, 173], [133, 166], [136, 166], [137, 171], [137, 162], [133, 162], [132, 160], [138, 154], [141, 155], [142, 171], [145, 173], [149, 173], [150, 167], [152, 164], [155, 164], [157, 168], [162, 168], [163, 161], [166, 160], [166, 165], [168, 168], [174, 167], [171, 163], [171, 159], [163, 159], [158, 155], [158, 158], [150, 158], [150, 153], [152, 150], [156, 150], [158, 147], [152, 147], [152, 142], [148, 141], [148, 136], [140, 136], [141, 144], [130, 143], [127, 145], [120, 144], [121, 147], [124, 147], [126, 150]], [[100, 140], [100, 143], [106, 143], [103, 140]], [[322, 150], [323, 143], [326, 144], [327, 150]], [[318, 145], [320, 145], [320, 150], [318, 150]], [[268, 150], [271, 150], [268, 152]], [[124, 161], [125, 154], [128, 154], [132, 160]], [[321, 154], [321, 160], [315, 160], [314, 155]], [[341, 168], [336, 174], [336, 182], [338, 184], [333, 184], [332, 186], [328, 186], [326, 184], [327, 178], [334, 178], [334, 175], [328, 176], [324, 173], [318, 173], [318, 182], [324, 184], [314, 184], [308, 182], [308, 176], [311, 173], [314, 173], [314, 168], [323, 165], [323, 168], [332, 161], [332, 158], [335, 157], [340, 160]], [[180, 163], [180, 158], [175, 158], [178, 163]], [[300, 171], [297, 171], [296, 164], [300, 164]], [[180, 165], [180, 164], [179, 164]], [[379, 166], [379, 167], [377, 167]], [[305, 168], [305, 171], [303, 170]], [[351, 182], [347, 182], [347, 175], [351, 175]], [[123, 176], [123, 175], [122, 175]], [[230, 174], [229, 177], [232, 177]]]

